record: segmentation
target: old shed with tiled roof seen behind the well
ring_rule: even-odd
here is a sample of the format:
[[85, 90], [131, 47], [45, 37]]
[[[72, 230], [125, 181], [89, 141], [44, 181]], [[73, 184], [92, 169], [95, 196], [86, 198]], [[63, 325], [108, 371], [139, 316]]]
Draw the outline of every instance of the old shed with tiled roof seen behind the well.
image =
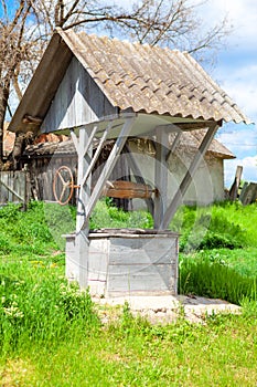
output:
[[[168, 195], [169, 198], [174, 195], [175, 186], [183, 177], [186, 168], [189, 167], [203, 136], [205, 129], [183, 132], [180, 140], [172, 154], [168, 157], [169, 178], [172, 181], [169, 185]], [[43, 137], [43, 143], [41, 143]], [[53, 138], [52, 138], [53, 137]], [[62, 137], [65, 137], [63, 140]], [[174, 140], [174, 135], [169, 137], [169, 145], [171, 146]], [[101, 149], [98, 161], [93, 169], [93, 185], [97, 180], [98, 174], [96, 170], [103, 165], [109, 156], [113, 149], [115, 140], [106, 142]], [[114, 171], [109, 179], [126, 179], [128, 181], [135, 181], [133, 171], [126, 157], [126, 148], [130, 148], [137, 164], [140, 164], [141, 172], [144, 180], [151, 186], [154, 185], [154, 136], [152, 137], [130, 137], [128, 138], [125, 149], [122, 150], [122, 157], [119, 163], [116, 164]], [[94, 149], [97, 148], [97, 143], [94, 145]], [[93, 151], [94, 151], [93, 149]], [[185, 205], [210, 205], [212, 202], [222, 201], [225, 199], [224, 188], [224, 160], [233, 159], [235, 156], [223, 144], [213, 139], [204, 158], [199, 166], [194, 178], [183, 198]], [[77, 171], [77, 153], [72, 139], [66, 136], [50, 136], [41, 135], [36, 144], [29, 145], [21, 159], [20, 169], [28, 166], [34, 182], [34, 196], [39, 200], [54, 201], [54, 195], [52, 189], [52, 181], [54, 174], [58, 167], [66, 165], [73, 171], [74, 178]], [[206, 186], [206, 181], [208, 185]], [[146, 209], [146, 202], [142, 199], [113, 199], [115, 203], [125, 210]], [[76, 202], [75, 192], [72, 199], [72, 203]]]

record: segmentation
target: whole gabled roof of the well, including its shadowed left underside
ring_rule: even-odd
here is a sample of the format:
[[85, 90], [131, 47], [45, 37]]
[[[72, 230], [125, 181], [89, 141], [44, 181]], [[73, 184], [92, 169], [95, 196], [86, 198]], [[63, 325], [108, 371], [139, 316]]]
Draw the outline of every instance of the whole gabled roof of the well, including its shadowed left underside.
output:
[[[39, 128], [73, 56], [121, 112], [250, 123], [186, 52], [57, 29], [13, 116], [11, 130]], [[40, 118], [39, 123], [28, 124], [24, 118], [30, 115]]]

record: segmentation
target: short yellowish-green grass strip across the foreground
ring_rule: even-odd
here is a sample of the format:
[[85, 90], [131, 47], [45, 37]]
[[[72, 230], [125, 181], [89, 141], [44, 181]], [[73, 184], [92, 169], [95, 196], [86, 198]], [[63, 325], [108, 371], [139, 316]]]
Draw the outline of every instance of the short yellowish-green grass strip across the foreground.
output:
[[151, 326], [125, 311], [116, 324], [23, 347], [0, 373], [10, 386], [256, 386], [256, 334], [247, 315]]

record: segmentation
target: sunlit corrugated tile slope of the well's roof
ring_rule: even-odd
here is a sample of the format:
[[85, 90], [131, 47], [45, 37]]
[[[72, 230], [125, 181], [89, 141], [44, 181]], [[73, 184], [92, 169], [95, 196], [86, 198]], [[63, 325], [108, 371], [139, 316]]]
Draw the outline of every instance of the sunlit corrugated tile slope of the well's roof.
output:
[[114, 106], [121, 111], [249, 123], [186, 52], [62, 32], [69, 49]]

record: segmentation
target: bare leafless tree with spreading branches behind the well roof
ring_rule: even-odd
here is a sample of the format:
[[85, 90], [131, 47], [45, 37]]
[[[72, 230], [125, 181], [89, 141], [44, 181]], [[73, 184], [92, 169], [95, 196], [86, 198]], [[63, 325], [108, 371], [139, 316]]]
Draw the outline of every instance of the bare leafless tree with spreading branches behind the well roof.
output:
[[165, 44], [192, 53], [216, 49], [227, 22], [201, 33], [197, 6], [189, 0], [140, 0], [127, 9], [94, 0], [0, 0], [0, 160], [10, 100], [22, 97], [54, 29], [103, 31], [141, 43]]

